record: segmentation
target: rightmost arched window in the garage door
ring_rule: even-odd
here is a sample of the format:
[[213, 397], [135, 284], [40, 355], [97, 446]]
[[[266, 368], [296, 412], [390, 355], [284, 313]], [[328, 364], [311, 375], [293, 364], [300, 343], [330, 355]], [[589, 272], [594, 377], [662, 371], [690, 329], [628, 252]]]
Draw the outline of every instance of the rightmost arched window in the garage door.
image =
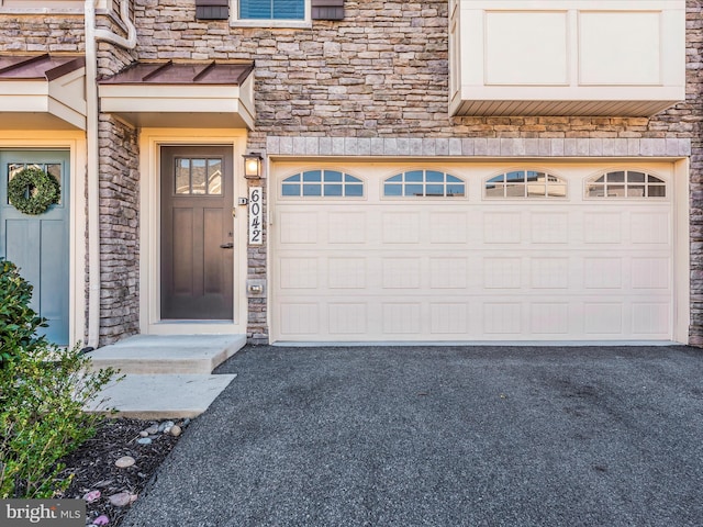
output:
[[667, 182], [638, 170], [615, 170], [591, 179], [587, 198], [666, 198]]

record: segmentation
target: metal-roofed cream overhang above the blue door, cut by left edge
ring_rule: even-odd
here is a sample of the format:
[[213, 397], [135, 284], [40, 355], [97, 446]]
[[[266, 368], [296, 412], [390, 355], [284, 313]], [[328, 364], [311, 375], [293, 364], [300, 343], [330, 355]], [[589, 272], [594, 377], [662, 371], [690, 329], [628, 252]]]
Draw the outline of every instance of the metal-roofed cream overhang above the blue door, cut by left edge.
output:
[[86, 59], [0, 56], [0, 130], [86, 130]]

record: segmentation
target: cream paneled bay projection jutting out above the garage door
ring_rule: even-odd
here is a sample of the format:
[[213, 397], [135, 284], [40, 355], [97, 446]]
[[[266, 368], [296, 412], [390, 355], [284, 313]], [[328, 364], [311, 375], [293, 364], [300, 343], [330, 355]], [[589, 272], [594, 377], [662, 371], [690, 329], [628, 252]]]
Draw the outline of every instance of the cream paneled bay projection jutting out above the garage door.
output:
[[685, 99], [684, 0], [450, 0], [453, 115], [654, 115]]

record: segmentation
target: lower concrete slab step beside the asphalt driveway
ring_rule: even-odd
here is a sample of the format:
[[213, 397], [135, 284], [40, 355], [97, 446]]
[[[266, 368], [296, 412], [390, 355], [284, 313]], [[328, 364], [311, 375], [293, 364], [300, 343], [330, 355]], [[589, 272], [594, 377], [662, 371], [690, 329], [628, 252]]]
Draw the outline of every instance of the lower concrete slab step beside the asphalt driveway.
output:
[[[237, 375], [127, 374], [86, 410], [136, 419], [197, 417]], [[116, 414], [111, 410], [116, 410]]]

